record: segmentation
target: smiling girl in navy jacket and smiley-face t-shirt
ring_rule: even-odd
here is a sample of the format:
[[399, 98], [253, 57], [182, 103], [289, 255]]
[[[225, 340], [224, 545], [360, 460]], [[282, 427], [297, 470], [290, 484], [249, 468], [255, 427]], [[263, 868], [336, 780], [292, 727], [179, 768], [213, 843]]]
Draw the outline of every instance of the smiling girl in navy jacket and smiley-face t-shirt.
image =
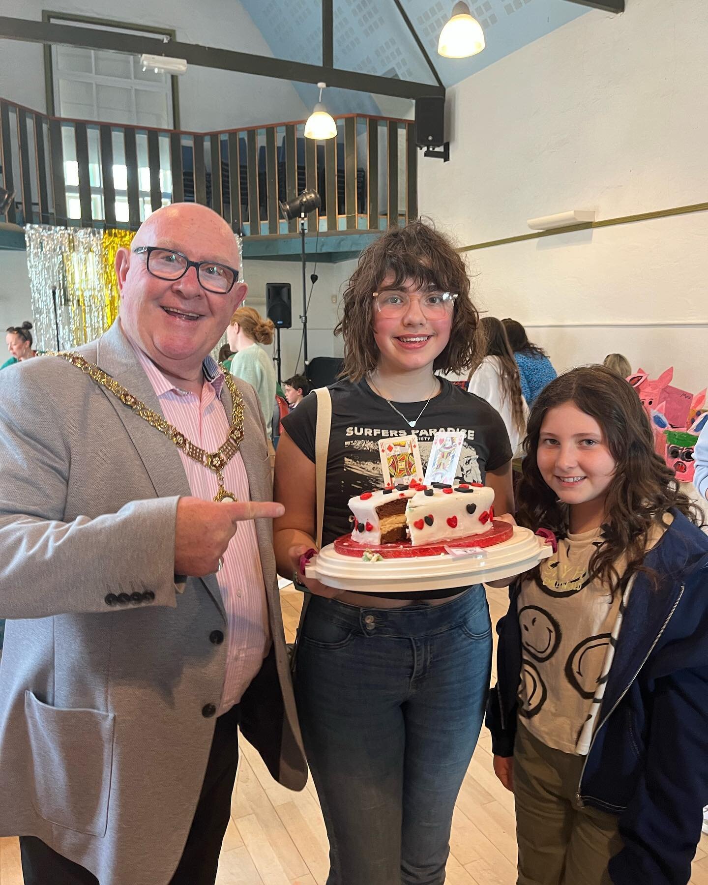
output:
[[609, 369], [551, 381], [525, 449], [519, 522], [558, 549], [510, 588], [488, 706], [519, 885], [686, 885], [708, 802], [708, 537]]

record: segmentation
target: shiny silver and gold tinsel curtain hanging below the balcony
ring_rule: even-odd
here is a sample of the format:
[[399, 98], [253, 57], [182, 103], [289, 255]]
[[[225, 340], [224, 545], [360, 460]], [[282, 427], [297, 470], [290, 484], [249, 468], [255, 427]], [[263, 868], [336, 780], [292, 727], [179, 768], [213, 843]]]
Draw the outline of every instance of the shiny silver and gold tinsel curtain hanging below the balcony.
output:
[[116, 252], [133, 231], [27, 225], [27, 269], [40, 350], [92, 341], [118, 315]]

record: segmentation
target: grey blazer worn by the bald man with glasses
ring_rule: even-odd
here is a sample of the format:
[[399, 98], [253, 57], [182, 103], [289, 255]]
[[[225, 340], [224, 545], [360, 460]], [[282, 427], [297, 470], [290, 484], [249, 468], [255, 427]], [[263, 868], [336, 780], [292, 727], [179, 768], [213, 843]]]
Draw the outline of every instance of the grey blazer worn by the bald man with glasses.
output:
[[[118, 322], [79, 350], [159, 411]], [[269, 500], [258, 400], [236, 383], [250, 495]], [[39, 836], [101, 885], [170, 881], [212, 743], [202, 710], [219, 704], [227, 643], [209, 635], [227, 620], [214, 575], [175, 584], [187, 495], [173, 443], [75, 366], [42, 357], [0, 375], [0, 835]], [[302, 789], [270, 521], [257, 530], [273, 649], [242, 732]]]

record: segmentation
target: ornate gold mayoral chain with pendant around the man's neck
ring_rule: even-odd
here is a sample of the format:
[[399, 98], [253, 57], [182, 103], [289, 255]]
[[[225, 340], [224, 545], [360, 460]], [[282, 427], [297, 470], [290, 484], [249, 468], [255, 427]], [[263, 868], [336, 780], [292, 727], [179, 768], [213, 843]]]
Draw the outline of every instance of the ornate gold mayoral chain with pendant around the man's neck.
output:
[[208, 468], [212, 473], [216, 473], [216, 478], [219, 481], [219, 489], [216, 496], [214, 496], [214, 501], [238, 501], [234, 492], [229, 492], [224, 488], [224, 467], [226, 467], [231, 458], [235, 456], [243, 439], [243, 400], [234, 383], [234, 379], [228, 372], [224, 373], [224, 381], [226, 381], [233, 404], [231, 411], [231, 427], [228, 428], [226, 442], [220, 445], [219, 449], [216, 451], [205, 451], [204, 449], [200, 449], [199, 446], [194, 443], [191, 443], [181, 430], [178, 430], [177, 427], [174, 427], [173, 424], [166, 421], [162, 415], [159, 415], [158, 412], [153, 412], [152, 409], [142, 403], [137, 396], [133, 396], [133, 394], [124, 388], [122, 384], [119, 384], [115, 378], [112, 378], [111, 375], [105, 373], [103, 369], [99, 369], [98, 366], [94, 366], [93, 363], [89, 363], [88, 360], [81, 357], [78, 353], [55, 353], [54, 356], [61, 357], [62, 359], [65, 359], [67, 363], [71, 363], [72, 366], [81, 369], [81, 372], [89, 375], [89, 378], [92, 381], [96, 381], [96, 384], [99, 384], [106, 390], [110, 390], [113, 396], [117, 396], [122, 404], [127, 405], [129, 409], [132, 409], [143, 421], [147, 421], [148, 424], [150, 424], [150, 427], [155, 427], [155, 429], [159, 430], [161, 434], [164, 434], [168, 440], [172, 440], [177, 448], [183, 451], [188, 458], [191, 458], [193, 461], [196, 461], [197, 464], [201, 464]]

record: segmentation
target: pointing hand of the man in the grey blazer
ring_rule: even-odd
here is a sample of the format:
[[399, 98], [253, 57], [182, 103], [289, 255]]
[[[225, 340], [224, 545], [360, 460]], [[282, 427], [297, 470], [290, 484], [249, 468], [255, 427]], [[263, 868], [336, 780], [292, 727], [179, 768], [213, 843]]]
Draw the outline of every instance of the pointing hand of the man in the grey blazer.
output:
[[243, 519], [274, 519], [285, 512], [272, 501], [203, 501], [181, 497], [174, 527], [174, 573], [202, 578], [219, 569], [221, 558]]

